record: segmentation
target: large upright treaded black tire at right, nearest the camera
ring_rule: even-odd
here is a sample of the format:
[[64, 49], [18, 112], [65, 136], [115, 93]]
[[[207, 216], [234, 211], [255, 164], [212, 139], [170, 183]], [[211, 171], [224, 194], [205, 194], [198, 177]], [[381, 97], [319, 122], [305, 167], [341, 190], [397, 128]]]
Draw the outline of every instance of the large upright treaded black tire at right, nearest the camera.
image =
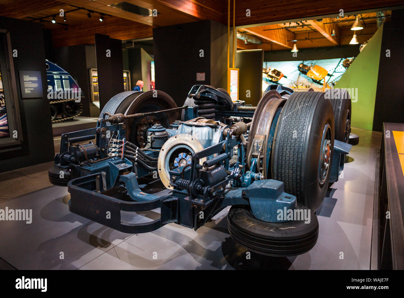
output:
[[[330, 156], [320, 179], [322, 135], [329, 125]], [[328, 129], [327, 129], [328, 131]], [[334, 147], [334, 113], [323, 92], [295, 92], [282, 109], [271, 152], [272, 177], [284, 190], [313, 211], [321, 205], [330, 180]]]

